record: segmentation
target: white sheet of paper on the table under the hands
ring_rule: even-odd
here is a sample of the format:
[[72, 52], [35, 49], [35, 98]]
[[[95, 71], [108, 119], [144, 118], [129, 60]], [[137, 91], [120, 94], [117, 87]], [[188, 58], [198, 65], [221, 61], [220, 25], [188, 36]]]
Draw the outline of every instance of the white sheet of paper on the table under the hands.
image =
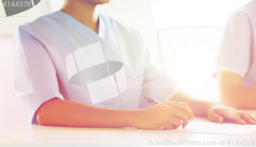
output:
[[240, 125], [233, 123], [218, 124], [213, 122], [189, 122], [185, 128], [182, 128], [180, 126], [177, 129], [166, 131], [242, 135], [256, 131], [256, 125]]

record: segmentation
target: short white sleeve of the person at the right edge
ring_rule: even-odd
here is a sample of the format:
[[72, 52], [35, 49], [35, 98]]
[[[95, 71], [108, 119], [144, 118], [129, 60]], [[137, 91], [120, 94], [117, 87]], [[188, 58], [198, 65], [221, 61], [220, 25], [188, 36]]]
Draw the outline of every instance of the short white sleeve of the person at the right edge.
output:
[[250, 18], [246, 11], [240, 9], [233, 12], [224, 29], [216, 67], [244, 78], [250, 67], [251, 40]]

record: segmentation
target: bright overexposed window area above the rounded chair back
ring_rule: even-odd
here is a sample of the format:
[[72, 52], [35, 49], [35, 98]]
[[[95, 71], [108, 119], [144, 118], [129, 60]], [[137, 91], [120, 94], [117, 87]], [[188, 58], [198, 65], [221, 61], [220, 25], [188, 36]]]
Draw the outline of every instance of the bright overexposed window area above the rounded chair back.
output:
[[224, 27], [231, 12], [250, 0], [151, 0], [156, 28]]

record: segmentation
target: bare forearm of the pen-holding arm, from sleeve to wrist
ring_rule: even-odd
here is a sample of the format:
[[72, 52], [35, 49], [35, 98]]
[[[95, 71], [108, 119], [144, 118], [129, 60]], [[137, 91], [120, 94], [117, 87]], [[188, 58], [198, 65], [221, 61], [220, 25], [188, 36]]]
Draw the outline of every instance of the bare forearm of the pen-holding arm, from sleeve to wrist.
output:
[[51, 99], [36, 111], [40, 125], [65, 127], [136, 127], [136, 112], [139, 110], [108, 109], [82, 103]]

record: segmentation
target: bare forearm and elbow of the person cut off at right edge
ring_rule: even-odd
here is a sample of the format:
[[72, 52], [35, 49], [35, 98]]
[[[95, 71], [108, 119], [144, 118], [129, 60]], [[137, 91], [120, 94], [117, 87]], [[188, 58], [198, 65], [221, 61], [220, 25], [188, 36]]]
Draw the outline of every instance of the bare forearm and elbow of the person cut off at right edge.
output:
[[219, 91], [220, 102], [237, 109], [256, 109], [256, 89], [246, 86], [235, 86]]

